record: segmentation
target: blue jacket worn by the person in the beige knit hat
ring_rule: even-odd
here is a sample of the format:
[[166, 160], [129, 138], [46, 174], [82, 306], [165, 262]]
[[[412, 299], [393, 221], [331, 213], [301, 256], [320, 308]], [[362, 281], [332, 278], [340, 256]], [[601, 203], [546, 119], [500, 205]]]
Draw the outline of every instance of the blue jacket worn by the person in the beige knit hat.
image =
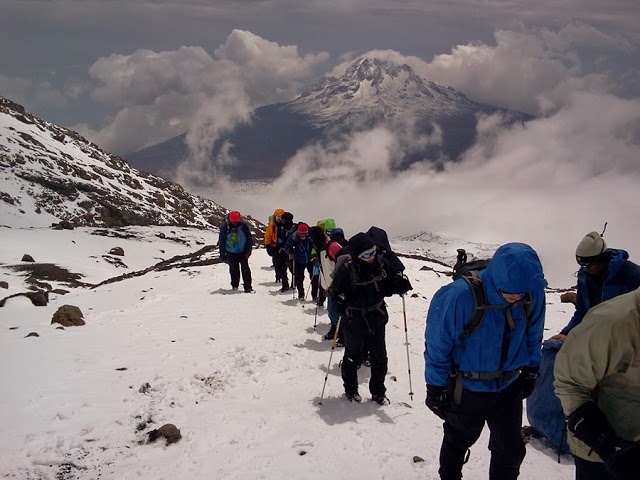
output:
[[[602, 284], [602, 296], [600, 302], [611, 300], [623, 293], [629, 293], [640, 287], [640, 266], [628, 260], [626, 250], [610, 248], [607, 253], [611, 255], [606, 278]], [[567, 335], [573, 327], [582, 322], [582, 319], [591, 307], [589, 289], [587, 287], [588, 275], [584, 267], [578, 270], [578, 291], [576, 294], [576, 311], [571, 320], [560, 333]]]

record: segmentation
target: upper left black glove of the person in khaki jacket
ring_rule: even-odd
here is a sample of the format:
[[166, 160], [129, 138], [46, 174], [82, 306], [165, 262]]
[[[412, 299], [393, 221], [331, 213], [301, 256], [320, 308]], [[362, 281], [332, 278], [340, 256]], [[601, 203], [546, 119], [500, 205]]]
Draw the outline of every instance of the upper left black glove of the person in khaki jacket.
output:
[[567, 427], [578, 440], [592, 448], [604, 462], [616, 453], [616, 434], [594, 402], [586, 402], [567, 417]]

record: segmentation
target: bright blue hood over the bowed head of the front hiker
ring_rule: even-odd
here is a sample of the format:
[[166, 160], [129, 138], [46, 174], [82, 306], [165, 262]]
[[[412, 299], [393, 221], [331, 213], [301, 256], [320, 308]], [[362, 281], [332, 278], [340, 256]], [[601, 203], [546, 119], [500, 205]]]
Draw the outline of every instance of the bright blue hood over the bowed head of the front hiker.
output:
[[500, 290], [508, 293], [539, 292], [547, 286], [538, 254], [525, 243], [507, 243], [498, 248], [489, 262], [484, 280], [493, 285], [495, 294]]

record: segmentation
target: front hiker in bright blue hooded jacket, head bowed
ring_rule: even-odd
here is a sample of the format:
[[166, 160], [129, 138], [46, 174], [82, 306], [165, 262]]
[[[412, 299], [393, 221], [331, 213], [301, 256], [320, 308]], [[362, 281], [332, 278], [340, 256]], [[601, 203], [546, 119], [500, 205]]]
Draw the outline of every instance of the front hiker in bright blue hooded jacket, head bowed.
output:
[[517, 478], [526, 453], [522, 399], [540, 365], [547, 282], [537, 253], [523, 243], [501, 246], [479, 276], [490, 308], [473, 332], [464, 335], [475, 309], [464, 279], [440, 288], [427, 314], [425, 403], [444, 420], [442, 480], [462, 478], [485, 422], [491, 480]]

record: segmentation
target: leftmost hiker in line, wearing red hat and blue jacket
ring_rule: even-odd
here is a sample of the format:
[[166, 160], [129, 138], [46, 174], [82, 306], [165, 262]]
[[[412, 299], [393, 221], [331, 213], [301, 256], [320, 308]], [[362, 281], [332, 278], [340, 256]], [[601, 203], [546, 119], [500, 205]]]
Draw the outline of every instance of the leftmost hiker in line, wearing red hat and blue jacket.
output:
[[231, 288], [237, 290], [240, 285], [240, 272], [242, 272], [242, 283], [244, 291], [251, 293], [251, 269], [249, 268], [249, 257], [253, 247], [253, 236], [245, 222], [242, 221], [240, 212], [229, 212], [224, 223], [220, 225], [220, 235], [218, 237], [218, 250], [220, 260], [229, 265], [231, 275]]

